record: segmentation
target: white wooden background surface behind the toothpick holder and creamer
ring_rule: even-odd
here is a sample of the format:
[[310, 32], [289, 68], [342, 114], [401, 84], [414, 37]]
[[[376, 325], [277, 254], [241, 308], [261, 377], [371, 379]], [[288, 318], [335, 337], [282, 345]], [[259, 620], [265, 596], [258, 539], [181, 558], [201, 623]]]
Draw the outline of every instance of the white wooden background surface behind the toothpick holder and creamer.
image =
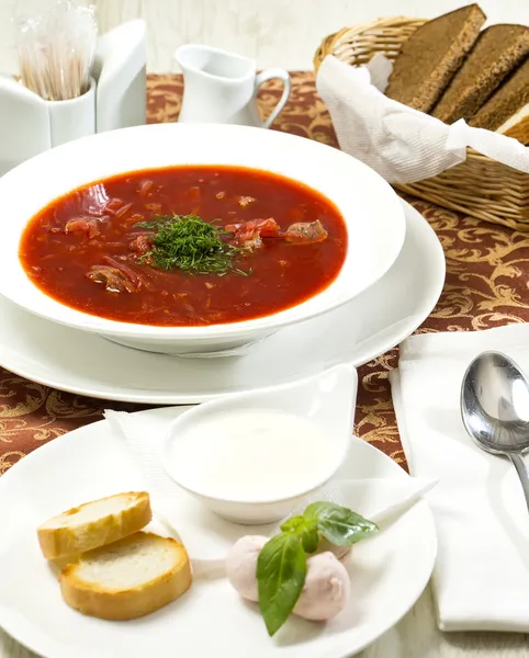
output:
[[[0, 70], [15, 66], [11, 18], [18, 4], [0, 0]], [[35, 0], [32, 0], [35, 1]], [[257, 59], [260, 68], [309, 69], [326, 34], [378, 16], [435, 16], [468, 0], [95, 0], [101, 30], [144, 18], [148, 68], [175, 70], [172, 54], [184, 43], [204, 43]], [[529, 24], [529, 0], [481, 0], [489, 22]]]

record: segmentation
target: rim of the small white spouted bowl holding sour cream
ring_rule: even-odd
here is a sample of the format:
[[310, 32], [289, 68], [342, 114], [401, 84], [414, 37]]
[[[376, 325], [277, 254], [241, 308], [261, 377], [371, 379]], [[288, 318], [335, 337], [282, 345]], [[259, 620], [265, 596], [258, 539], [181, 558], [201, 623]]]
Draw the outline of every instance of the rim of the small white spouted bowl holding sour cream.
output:
[[[178, 441], [179, 433], [185, 432], [187, 426], [192, 424], [193, 421], [196, 420], [196, 418], [200, 419], [203, 415], [206, 415], [210, 411], [221, 411], [222, 409], [229, 408], [234, 402], [239, 402], [240, 407], [244, 408], [245, 401], [255, 399], [256, 395], [266, 395], [269, 392], [285, 393], [285, 392], [292, 390], [293, 388], [300, 388], [304, 385], [311, 384], [312, 382], [317, 382], [318, 379], [322, 379], [326, 375], [330, 376], [334, 373], [338, 373], [338, 374], [344, 373], [345, 375], [350, 376], [352, 379], [352, 383], [353, 383], [353, 390], [357, 390], [358, 373], [357, 373], [356, 368], [352, 366], [352, 364], [340, 363], [330, 368], [327, 368], [323, 373], [316, 373], [315, 375], [311, 375], [308, 377], [303, 377], [295, 382], [289, 382], [288, 384], [281, 384], [279, 386], [269, 386], [268, 388], [261, 388], [259, 390], [248, 390], [245, 393], [228, 394], [228, 395], [222, 396], [218, 399], [210, 400], [209, 402], [203, 402], [201, 405], [198, 405], [196, 407], [193, 407], [193, 408], [184, 411], [181, 416], [179, 416], [178, 418], [176, 418], [172, 421], [171, 427], [170, 427], [169, 431], [167, 432], [167, 435], [165, 436], [162, 444], [161, 444], [160, 460], [161, 460], [161, 464], [162, 464], [166, 473], [179, 487], [182, 487], [182, 489], [185, 489], [187, 491], [190, 491], [191, 494], [194, 494], [196, 496], [202, 496], [204, 498], [210, 498], [211, 500], [217, 500], [218, 502], [227, 502], [227, 503], [241, 504], [241, 506], [243, 504], [244, 506], [273, 504], [273, 503], [288, 502], [289, 500], [294, 500], [295, 498], [305, 496], [306, 494], [309, 494], [311, 491], [319, 489], [337, 473], [337, 470], [340, 468], [340, 466], [346, 461], [347, 455], [349, 454], [349, 449], [350, 449], [350, 436], [340, 438], [341, 445], [339, 445], [339, 447], [336, 451], [336, 463], [331, 467], [328, 468], [328, 470], [325, 473], [324, 476], [319, 476], [318, 479], [315, 480], [315, 483], [313, 485], [311, 485], [311, 486], [307, 485], [306, 487], [304, 487], [303, 489], [301, 489], [300, 491], [297, 491], [295, 494], [289, 494], [286, 496], [280, 496], [278, 498], [227, 498], [227, 497], [223, 497], [223, 496], [217, 496], [216, 494], [214, 494], [212, 491], [207, 491], [206, 489], [201, 490], [196, 487], [190, 487], [189, 485], [184, 485], [184, 484], [182, 484], [180, 478], [175, 476], [175, 472], [170, 467], [170, 464], [171, 464], [170, 453], [171, 453], [171, 446], [173, 445], [175, 441]], [[357, 398], [357, 396], [354, 394], [351, 395], [350, 409], [349, 409], [351, 426], [352, 426], [353, 413], [354, 413], [356, 398]], [[263, 410], [271, 409], [271, 407], [267, 406], [267, 404], [263, 404], [261, 408]], [[335, 439], [335, 441], [338, 442], [338, 440], [336, 440], [336, 439]]]

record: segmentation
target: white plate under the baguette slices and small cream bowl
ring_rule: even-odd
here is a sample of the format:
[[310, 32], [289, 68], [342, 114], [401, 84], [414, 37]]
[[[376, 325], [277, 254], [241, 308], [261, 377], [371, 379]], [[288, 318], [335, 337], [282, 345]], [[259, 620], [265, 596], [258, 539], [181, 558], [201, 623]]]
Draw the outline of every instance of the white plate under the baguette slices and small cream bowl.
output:
[[[154, 447], [181, 411], [160, 409], [151, 416]], [[138, 421], [145, 418], [142, 413], [135, 415]], [[351, 441], [350, 458], [337, 477], [387, 478], [389, 483], [387, 487], [379, 483], [376, 488], [368, 484], [351, 488], [348, 504], [368, 514], [391, 502], [408, 476], [382, 452], [359, 439]], [[191, 591], [175, 603], [140, 620], [113, 623], [85, 617], [63, 602], [56, 577], [40, 553], [35, 527], [82, 500], [144, 485], [123, 439], [113, 434], [109, 421], [52, 441], [0, 478], [0, 626], [5, 632], [44, 658], [172, 654], [202, 658], [212, 651], [218, 658], [346, 658], [393, 626], [431, 575], [436, 532], [428, 506], [419, 502], [379, 536], [354, 547], [349, 567], [351, 601], [328, 624], [292, 617], [271, 639], [254, 605], [244, 603], [224, 578], [205, 577], [198, 578]], [[179, 514], [187, 520], [179, 529], [184, 542], [193, 534], [190, 523], [196, 518], [202, 536], [199, 546], [204, 552], [210, 542], [213, 547], [229, 545], [248, 533], [247, 526], [207, 517], [211, 513], [183, 492], [175, 499], [171, 515], [177, 527]], [[254, 526], [252, 532], [258, 531]], [[261, 534], [267, 532], [261, 529]], [[194, 546], [191, 537], [192, 559]]]

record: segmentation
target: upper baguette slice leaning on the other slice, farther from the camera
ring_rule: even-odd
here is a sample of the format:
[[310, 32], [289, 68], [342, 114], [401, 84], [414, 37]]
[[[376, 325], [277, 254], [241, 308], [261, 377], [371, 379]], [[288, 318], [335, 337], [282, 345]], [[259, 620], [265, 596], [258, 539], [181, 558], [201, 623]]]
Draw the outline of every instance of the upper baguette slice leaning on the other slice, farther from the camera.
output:
[[93, 500], [54, 517], [37, 529], [44, 557], [57, 559], [116, 542], [142, 530], [153, 517], [145, 491]]

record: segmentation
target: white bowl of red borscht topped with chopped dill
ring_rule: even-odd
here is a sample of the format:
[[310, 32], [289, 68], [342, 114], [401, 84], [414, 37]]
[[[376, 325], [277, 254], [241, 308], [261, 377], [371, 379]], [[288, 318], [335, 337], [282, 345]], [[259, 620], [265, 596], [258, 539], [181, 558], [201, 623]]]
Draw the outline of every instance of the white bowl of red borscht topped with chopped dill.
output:
[[225, 350], [356, 297], [404, 214], [337, 149], [243, 126], [166, 124], [66, 144], [0, 179], [0, 293], [160, 352]]

